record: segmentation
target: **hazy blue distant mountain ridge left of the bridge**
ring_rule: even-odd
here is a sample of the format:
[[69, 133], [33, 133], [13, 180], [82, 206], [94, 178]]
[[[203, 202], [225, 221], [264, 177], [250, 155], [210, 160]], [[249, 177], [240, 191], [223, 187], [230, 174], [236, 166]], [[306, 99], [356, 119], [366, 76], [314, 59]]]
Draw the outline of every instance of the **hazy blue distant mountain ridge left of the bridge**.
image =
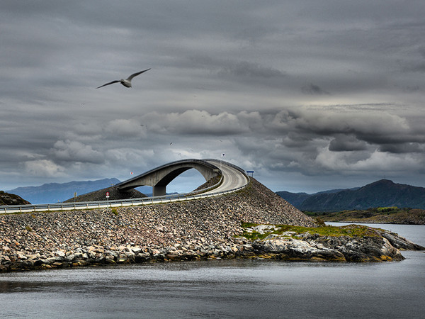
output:
[[118, 184], [118, 179], [98, 179], [97, 181], [70, 181], [69, 183], [49, 183], [41, 186], [26, 186], [11, 189], [8, 193], [16, 194], [25, 198], [30, 203], [57, 203], [78, 195], [86, 194], [98, 189], [105, 189]]

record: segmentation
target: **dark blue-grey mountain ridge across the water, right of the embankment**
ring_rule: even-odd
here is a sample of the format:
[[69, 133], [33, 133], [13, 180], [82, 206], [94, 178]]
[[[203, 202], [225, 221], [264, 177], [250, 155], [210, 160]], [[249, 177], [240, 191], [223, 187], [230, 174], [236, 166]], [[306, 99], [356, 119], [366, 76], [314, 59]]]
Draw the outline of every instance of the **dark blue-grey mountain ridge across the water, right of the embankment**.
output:
[[357, 189], [324, 191], [311, 195], [285, 193], [288, 192], [277, 192], [301, 211], [329, 212], [390, 206], [425, 208], [424, 187], [395, 184], [388, 179], [381, 179]]

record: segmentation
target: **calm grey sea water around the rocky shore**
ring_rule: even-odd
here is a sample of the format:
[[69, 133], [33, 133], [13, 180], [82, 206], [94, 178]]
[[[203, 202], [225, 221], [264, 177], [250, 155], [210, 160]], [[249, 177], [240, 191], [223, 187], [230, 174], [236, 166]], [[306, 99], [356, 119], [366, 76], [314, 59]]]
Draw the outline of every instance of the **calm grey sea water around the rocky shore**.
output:
[[[373, 226], [425, 245], [425, 226]], [[223, 259], [0, 274], [0, 318], [425, 318], [425, 253], [402, 254], [379, 264]]]

